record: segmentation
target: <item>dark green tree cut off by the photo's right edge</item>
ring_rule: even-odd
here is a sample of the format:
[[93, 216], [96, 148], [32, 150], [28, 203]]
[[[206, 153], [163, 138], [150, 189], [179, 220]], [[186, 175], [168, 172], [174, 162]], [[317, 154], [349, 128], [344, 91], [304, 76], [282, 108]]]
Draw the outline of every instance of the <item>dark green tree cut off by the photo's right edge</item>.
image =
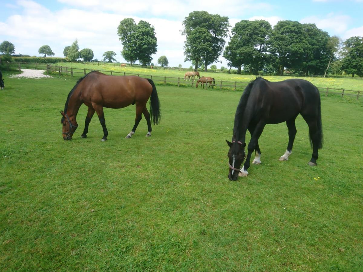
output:
[[363, 37], [350, 37], [343, 45], [342, 69], [352, 77], [363, 77]]

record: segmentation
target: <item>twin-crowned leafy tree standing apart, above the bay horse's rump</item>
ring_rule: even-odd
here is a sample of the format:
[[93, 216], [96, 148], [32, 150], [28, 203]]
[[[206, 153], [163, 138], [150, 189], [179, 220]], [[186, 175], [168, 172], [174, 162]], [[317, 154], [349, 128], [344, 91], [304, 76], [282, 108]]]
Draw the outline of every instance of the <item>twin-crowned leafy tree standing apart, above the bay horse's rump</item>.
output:
[[143, 65], [151, 62], [151, 55], [157, 51], [157, 39], [155, 28], [146, 21], [139, 21], [136, 25], [134, 19], [123, 19], [118, 28], [117, 34], [122, 43], [122, 57], [132, 63], [139, 60]]

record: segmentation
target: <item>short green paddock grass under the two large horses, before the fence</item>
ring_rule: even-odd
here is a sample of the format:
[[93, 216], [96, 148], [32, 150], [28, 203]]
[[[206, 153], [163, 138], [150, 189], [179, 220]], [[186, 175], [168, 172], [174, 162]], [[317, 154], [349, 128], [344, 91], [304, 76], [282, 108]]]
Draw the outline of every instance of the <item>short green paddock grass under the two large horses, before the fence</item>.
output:
[[0, 270], [362, 271], [362, 100], [322, 96], [317, 167], [297, 119], [267, 125], [262, 165], [227, 178], [241, 92], [157, 86], [160, 125], [131, 139], [135, 107], [105, 109], [64, 141], [76, 78], [11, 79], [0, 91]]

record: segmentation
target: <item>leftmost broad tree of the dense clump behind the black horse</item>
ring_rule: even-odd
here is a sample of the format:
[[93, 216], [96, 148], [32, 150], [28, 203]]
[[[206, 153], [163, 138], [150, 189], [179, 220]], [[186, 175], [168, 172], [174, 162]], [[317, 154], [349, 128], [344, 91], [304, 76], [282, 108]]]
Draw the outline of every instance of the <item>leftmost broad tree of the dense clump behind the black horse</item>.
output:
[[242, 65], [250, 67], [254, 73], [262, 70], [271, 30], [271, 25], [265, 20], [237, 22], [223, 53], [223, 57], [229, 61], [228, 65], [238, 67], [237, 73], [240, 73]]

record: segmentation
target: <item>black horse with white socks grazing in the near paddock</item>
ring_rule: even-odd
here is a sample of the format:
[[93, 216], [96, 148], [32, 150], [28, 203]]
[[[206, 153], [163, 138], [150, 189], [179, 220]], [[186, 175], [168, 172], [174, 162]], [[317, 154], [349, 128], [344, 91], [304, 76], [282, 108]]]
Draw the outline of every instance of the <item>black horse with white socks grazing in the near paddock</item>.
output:
[[[256, 150], [253, 164], [261, 164], [261, 151], [258, 138], [266, 124], [278, 124], [286, 121], [289, 129], [289, 143], [280, 161], [288, 160], [296, 135], [295, 119], [301, 114], [309, 126], [310, 145], [313, 155], [309, 165], [317, 165], [318, 149], [322, 148], [323, 131], [321, 123], [320, 95], [317, 87], [303, 79], [287, 79], [280, 82], [269, 82], [264, 78], [256, 78], [245, 88], [234, 117], [232, 142], [229, 145], [230, 180], [238, 176], [246, 177], [250, 166], [252, 152]], [[246, 131], [250, 132], [245, 158]]]

